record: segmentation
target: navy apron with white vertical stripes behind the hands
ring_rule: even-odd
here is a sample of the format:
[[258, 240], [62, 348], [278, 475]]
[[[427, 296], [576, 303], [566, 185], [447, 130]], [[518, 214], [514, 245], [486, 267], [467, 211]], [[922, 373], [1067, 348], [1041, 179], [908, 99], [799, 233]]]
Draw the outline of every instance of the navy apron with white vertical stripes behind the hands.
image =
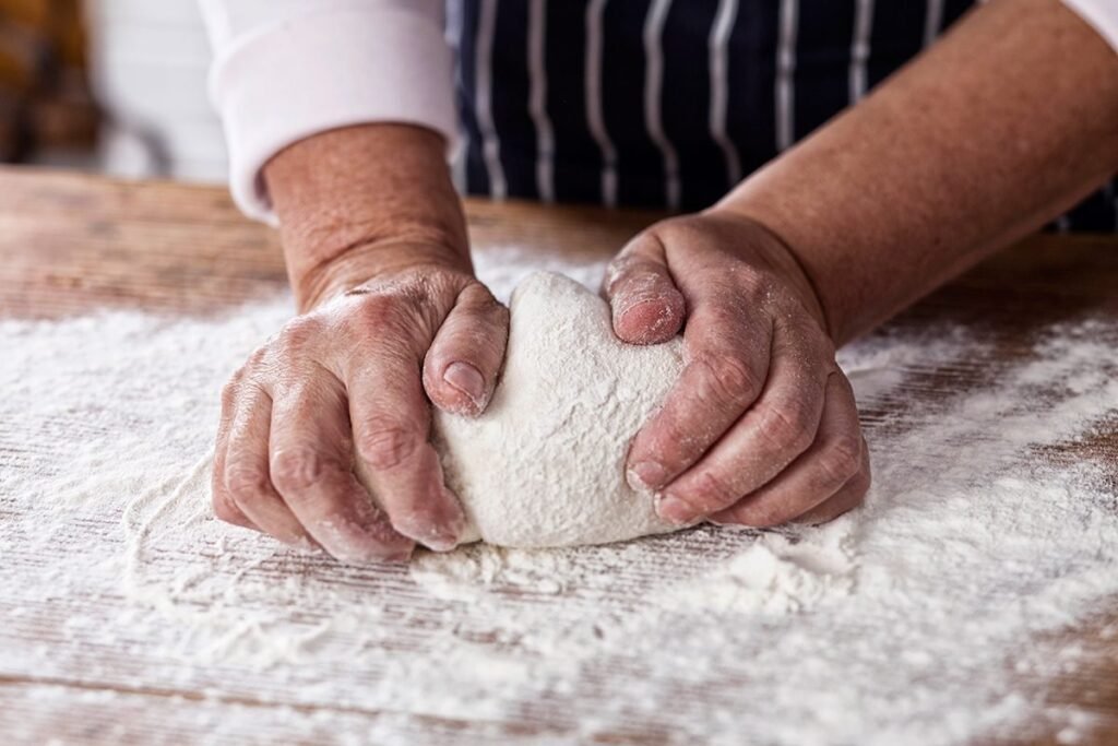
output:
[[[451, 0], [464, 191], [694, 210], [973, 0]], [[1111, 182], [1059, 229], [1118, 229]]]

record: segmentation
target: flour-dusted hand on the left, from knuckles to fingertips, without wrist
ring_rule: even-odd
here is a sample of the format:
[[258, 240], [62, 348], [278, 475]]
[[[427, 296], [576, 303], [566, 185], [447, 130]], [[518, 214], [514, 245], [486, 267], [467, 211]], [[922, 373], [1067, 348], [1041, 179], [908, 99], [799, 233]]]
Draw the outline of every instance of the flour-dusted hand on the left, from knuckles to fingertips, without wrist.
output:
[[443, 264], [378, 274], [293, 319], [225, 388], [217, 516], [350, 563], [453, 548], [465, 519], [428, 440], [428, 397], [481, 413], [506, 338], [506, 309]]

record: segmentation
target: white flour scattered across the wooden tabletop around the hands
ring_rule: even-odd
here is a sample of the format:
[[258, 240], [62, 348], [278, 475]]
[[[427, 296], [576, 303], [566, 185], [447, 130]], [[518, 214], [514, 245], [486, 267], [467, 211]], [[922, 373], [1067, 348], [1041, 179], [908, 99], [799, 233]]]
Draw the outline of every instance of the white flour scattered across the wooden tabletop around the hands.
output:
[[[512, 249], [481, 259], [499, 295], [530, 268]], [[0, 674], [200, 691], [148, 717], [214, 742], [263, 733], [246, 701], [274, 702], [267, 731], [287, 742], [476, 743], [524, 720], [533, 743], [1090, 731], [1042, 684], [1082, 664], [1048, 633], [1118, 594], [1116, 465], [1074, 455], [1118, 426], [1115, 324], [1040, 330], [1008, 362], [977, 330], [901, 328], [844, 351], [875, 484], [822, 529], [351, 568], [220, 525], [206, 502], [219, 388], [288, 308], [0, 322]], [[987, 383], [922, 397], [944, 371]], [[60, 697], [25, 691], [0, 729], [18, 742], [63, 702], [131, 711]], [[455, 718], [476, 725], [437, 725]]]

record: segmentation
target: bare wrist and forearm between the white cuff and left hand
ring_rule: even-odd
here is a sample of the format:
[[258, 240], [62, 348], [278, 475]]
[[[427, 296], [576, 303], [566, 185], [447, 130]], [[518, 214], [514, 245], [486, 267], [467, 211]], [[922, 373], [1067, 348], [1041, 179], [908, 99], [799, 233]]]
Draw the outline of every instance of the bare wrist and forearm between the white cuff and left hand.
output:
[[309, 138], [265, 166], [301, 309], [404, 266], [470, 268], [445, 153], [430, 130], [370, 124]]

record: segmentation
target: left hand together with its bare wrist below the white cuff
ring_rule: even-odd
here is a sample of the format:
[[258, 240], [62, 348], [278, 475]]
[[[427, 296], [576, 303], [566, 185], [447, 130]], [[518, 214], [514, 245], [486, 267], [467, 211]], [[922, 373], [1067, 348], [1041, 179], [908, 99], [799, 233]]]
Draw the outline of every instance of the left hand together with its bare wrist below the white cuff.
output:
[[474, 277], [445, 153], [430, 130], [367, 124], [265, 166], [303, 315], [226, 387], [219, 518], [350, 563], [459, 540], [430, 403], [485, 408], [509, 315]]

